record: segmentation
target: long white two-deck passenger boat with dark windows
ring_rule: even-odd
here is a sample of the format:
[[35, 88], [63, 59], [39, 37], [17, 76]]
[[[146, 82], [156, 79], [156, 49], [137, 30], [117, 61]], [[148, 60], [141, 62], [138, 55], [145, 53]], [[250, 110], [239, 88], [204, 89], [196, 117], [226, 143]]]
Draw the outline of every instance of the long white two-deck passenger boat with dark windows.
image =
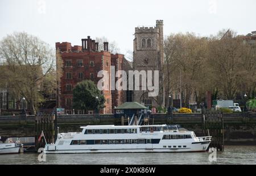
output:
[[59, 133], [45, 153], [204, 152], [211, 136], [168, 129], [167, 125], [88, 125], [79, 133]]

